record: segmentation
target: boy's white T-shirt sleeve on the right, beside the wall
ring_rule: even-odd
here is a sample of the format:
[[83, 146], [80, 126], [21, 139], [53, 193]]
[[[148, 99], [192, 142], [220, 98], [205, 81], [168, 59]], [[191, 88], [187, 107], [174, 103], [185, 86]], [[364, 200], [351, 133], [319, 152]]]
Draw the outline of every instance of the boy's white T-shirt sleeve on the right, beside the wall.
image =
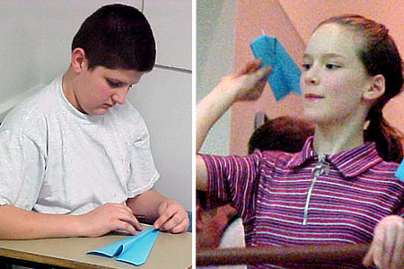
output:
[[127, 183], [129, 198], [151, 189], [159, 178], [159, 173], [154, 166], [150, 150], [150, 138], [146, 126], [132, 144], [129, 169], [131, 171], [131, 176]]

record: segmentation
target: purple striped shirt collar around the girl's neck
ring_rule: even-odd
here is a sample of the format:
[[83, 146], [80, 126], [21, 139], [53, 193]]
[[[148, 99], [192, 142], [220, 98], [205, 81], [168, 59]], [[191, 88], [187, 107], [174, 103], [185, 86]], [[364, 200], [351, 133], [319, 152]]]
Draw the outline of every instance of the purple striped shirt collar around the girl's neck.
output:
[[[312, 142], [311, 136], [304, 143], [302, 151], [295, 153], [287, 163], [287, 167], [297, 168], [305, 161], [317, 158], [317, 154], [312, 150]], [[353, 178], [381, 162], [382, 158], [376, 150], [375, 143], [364, 143], [354, 149], [329, 155], [326, 161], [338, 169], [345, 178]]]

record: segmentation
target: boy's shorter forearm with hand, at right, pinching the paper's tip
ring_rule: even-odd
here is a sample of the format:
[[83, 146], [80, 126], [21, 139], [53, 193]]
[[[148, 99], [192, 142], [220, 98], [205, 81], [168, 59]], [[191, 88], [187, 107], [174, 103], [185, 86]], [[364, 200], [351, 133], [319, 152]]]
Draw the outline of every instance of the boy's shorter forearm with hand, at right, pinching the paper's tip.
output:
[[154, 228], [171, 233], [188, 229], [189, 218], [184, 207], [175, 200], [160, 195], [151, 189], [136, 197], [127, 199], [127, 206], [145, 221], [153, 222]]

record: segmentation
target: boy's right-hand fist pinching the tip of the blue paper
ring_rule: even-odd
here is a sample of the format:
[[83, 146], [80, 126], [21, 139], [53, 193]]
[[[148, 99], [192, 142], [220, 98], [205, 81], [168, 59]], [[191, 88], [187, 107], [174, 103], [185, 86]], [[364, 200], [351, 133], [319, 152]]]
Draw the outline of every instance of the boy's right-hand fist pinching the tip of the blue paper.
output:
[[154, 221], [154, 228], [171, 233], [186, 231], [189, 227], [188, 213], [180, 203], [167, 199], [159, 206], [159, 218]]

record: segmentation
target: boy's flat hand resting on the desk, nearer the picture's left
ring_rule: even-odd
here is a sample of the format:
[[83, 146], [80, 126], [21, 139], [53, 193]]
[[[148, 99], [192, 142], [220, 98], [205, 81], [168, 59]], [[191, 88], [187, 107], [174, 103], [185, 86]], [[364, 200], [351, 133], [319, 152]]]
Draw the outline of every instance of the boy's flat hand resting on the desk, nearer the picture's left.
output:
[[142, 230], [132, 210], [125, 204], [103, 204], [79, 219], [84, 237], [100, 237], [113, 230], [126, 230], [131, 234]]

